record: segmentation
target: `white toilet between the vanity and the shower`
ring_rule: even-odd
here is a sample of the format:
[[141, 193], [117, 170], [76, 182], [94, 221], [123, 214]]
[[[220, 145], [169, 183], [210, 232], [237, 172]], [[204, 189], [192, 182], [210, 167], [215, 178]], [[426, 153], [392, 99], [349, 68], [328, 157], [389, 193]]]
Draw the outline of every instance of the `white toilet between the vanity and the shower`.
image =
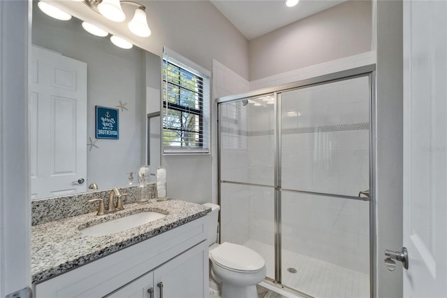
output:
[[211, 207], [208, 218], [208, 245], [210, 246], [210, 276], [220, 283], [221, 298], [257, 298], [256, 285], [265, 278], [263, 257], [245, 246], [224, 242], [217, 244], [219, 205]]

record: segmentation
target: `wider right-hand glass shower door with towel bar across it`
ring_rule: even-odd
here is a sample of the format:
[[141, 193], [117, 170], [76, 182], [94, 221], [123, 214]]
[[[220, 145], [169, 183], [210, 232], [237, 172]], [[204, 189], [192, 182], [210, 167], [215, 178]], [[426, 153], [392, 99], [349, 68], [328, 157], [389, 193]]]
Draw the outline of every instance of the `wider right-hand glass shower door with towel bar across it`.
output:
[[281, 92], [283, 285], [369, 297], [369, 77]]

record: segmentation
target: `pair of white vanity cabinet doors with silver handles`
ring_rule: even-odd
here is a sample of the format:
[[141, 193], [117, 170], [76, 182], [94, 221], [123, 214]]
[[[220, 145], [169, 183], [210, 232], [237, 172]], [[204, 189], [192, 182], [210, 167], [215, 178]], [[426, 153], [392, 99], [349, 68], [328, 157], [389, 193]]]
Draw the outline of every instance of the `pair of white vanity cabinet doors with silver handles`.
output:
[[[206, 260], [204, 258], [206, 257]], [[195, 246], [107, 295], [108, 298], [197, 298], [207, 297], [203, 262], [207, 248]], [[206, 272], [207, 274], [207, 272]]]

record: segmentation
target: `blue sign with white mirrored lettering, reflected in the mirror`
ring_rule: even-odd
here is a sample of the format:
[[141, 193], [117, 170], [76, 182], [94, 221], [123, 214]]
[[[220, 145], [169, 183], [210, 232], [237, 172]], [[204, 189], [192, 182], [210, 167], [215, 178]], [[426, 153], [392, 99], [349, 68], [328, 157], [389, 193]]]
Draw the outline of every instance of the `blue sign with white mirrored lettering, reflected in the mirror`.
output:
[[96, 139], [119, 139], [118, 109], [96, 106]]

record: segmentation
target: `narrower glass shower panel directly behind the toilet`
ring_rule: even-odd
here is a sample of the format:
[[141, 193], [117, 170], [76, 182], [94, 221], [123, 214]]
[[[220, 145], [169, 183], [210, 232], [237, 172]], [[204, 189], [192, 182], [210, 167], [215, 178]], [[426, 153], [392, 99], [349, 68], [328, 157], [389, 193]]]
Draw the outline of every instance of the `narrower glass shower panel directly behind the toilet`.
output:
[[274, 127], [272, 94], [219, 104], [221, 243], [255, 250], [272, 279]]

